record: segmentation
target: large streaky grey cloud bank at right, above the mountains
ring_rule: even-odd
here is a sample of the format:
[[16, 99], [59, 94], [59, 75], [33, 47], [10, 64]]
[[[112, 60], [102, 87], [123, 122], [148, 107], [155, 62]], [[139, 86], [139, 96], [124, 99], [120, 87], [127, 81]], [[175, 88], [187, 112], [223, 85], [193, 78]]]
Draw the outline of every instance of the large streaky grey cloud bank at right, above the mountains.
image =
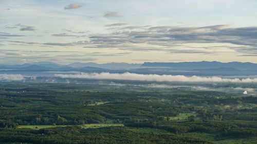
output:
[[[179, 26], [157, 26], [157, 27], [115, 27], [110, 34], [91, 35], [90, 42], [98, 48], [130, 48], [137, 51], [145, 51], [145, 47], [136, 47], [135, 44], [146, 44], [153, 46], [155, 50], [173, 51], [175, 47], [184, 47], [187, 44], [224, 44], [218, 48], [232, 49], [239, 53], [251, 54], [246, 56], [254, 56], [257, 54], [257, 27], [241, 27], [231, 28], [230, 25], [214, 25], [205, 27], [179, 27]], [[234, 45], [231, 47], [231, 45]], [[134, 46], [133, 46], [134, 45]], [[159, 46], [156, 49], [155, 46]], [[187, 49], [177, 51], [177, 53], [185, 53]], [[185, 48], [185, 47], [184, 47]], [[206, 53], [210, 48], [201, 46], [192, 46], [192, 51], [196, 48], [196, 53]], [[212, 49], [218, 49], [212, 47]], [[154, 50], [154, 49], [153, 49]], [[183, 52], [184, 51], [184, 52]], [[191, 51], [191, 52], [192, 52]], [[212, 51], [211, 53], [216, 53]], [[244, 56], [244, 55], [242, 55]]]

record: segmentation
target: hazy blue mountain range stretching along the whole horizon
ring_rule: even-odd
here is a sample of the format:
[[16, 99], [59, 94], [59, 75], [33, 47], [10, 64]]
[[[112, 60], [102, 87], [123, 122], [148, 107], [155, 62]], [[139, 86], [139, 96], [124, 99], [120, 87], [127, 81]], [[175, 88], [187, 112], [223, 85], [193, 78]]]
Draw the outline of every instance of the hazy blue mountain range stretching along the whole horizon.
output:
[[77, 71], [77, 72], [110, 72], [139, 74], [171, 74], [171, 75], [257, 75], [257, 64], [218, 61], [198, 61], [181, 63], [72, 63], [60, 65], [49, 61], [41, 61], [23, 65], [0, 64], [0, 73], [36, 73], [47, 71]]

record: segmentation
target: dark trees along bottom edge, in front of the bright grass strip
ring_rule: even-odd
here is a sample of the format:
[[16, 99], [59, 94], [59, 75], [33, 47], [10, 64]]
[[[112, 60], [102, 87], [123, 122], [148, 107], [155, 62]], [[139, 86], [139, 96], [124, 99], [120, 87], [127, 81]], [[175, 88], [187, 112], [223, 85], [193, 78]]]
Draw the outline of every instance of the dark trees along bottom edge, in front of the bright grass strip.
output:
[[0, 143], [27, 142], [34, 144], [79, 143], [212, 143], [204, 139], [180, 135], [135, 133], [126, 127], [82, 129], [80, 127], [55, 127], [40, 130], [0, 129]]

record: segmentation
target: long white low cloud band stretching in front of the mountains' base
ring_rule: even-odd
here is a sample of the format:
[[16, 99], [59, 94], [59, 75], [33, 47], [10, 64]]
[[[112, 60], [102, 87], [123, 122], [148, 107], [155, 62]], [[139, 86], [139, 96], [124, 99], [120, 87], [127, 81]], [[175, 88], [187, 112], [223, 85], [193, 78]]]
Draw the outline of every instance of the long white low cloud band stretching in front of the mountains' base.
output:
[[181, 82], [229, 82], [229, 83], [257, 83], [257, 78], [221, 78], [184, 76], [184, 75], [157, 75], [157, 74], [136, 74], [136, 73], [80, 73], [80, 74], [54, 74], [62, 78], [90, 78], [90, 79], [117, 79], [117, 80], [140, 80], [140, 81], [181, 81]]

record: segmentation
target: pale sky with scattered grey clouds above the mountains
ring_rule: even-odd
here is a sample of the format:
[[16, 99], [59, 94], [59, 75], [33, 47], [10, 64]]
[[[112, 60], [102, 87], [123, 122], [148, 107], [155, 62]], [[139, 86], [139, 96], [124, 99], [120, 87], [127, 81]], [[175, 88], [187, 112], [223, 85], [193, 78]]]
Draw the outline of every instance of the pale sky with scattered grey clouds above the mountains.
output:
[[0, 64], [257, 63], [255, 0], [1, 0]]

